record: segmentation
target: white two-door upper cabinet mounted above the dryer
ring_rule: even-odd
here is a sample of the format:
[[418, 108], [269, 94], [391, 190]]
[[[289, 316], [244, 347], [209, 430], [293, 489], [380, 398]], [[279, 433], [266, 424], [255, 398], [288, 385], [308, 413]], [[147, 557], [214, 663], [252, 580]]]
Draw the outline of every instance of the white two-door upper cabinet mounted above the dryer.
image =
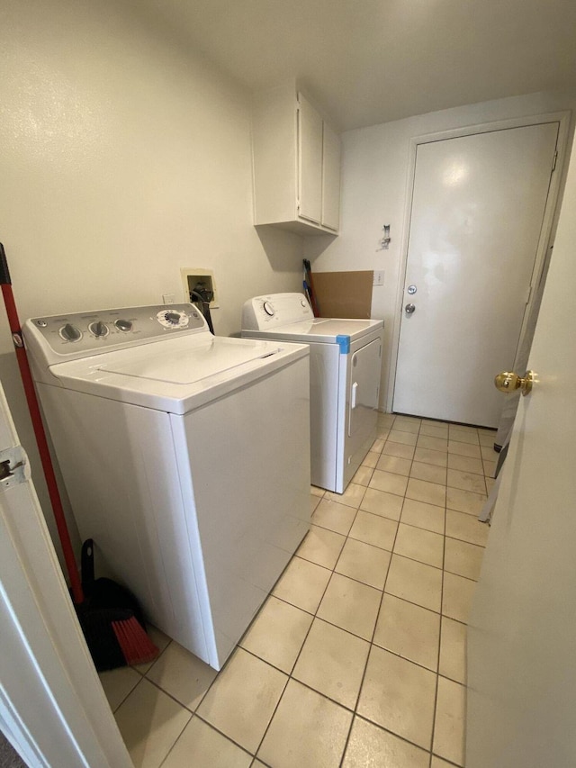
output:
[[252, 131], [254, 223], [337, 233], [338, 133], [292, 84], [257, 96]]

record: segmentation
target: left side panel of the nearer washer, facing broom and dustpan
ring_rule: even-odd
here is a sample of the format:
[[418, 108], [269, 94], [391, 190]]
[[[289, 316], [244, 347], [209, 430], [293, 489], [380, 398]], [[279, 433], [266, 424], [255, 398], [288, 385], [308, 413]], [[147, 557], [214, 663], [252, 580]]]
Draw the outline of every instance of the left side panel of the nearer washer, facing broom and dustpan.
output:
[[208, 661], [202, 563], [193, 561], [168, 414], [38, 388], [80, 536], [94, 538], [96, 575], [128, 586], [152, 624]]

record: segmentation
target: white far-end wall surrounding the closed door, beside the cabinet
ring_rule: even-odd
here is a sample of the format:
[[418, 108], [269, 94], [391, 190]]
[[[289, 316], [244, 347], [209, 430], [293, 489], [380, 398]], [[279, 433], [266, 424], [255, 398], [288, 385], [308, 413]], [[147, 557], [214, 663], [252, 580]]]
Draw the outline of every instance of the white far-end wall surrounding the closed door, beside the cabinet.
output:
[[[309, 238], [304, 251], [318, 272], [384, 271], [384, 285], [374, 288], [372, 303], [372, 316], [384, 320], [381, 408], [389, 395], [394, 323], [400, 321], [397, 290], [402, 279], [402, 233], [408, 224], [410, 140], [463, 126], [574, 109], [576, 92], [515, 96], [343, 134], [340, 236]], [[379, 249], [383, 224], [391, 225], [388, 250]]]

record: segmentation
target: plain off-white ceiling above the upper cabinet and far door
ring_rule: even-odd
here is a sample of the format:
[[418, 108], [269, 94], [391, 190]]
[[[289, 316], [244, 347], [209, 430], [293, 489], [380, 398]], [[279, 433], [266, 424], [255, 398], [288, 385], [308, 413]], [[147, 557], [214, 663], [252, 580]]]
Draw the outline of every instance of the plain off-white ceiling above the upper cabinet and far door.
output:
[[250, 90], [295, 77], [341, 131], [576, 87], [575, 0], [143, 0]]

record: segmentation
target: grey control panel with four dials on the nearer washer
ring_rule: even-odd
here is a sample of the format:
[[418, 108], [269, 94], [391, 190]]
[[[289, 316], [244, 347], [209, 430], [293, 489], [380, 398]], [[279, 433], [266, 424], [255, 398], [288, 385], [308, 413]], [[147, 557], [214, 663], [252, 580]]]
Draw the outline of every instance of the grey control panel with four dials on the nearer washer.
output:
[[27, 326], [40, 332], [49, 347], [60, 355], [97, 354], [130, 341], [159, 339], [166, 333], [208, 331], [206, 321], [193, 304], [74, 312], [32, 318], [26, 321], [24, 330]]

